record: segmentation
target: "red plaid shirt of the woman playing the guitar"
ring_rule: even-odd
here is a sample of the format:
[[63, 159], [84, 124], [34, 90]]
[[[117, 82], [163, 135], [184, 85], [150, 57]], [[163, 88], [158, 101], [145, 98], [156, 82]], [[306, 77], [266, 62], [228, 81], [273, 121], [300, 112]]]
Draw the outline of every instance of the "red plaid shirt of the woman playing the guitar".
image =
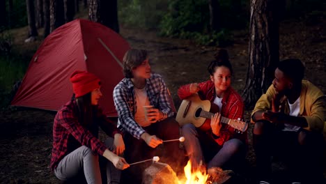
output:
[[[181, 86], [178, 89], [178, 96], [181, 100], [192, 95], [192, 93], [189, 92], [189, 87], [190, 84], [187, 84], [185, 86]], [[216, 97], [214, 83], [208, 80], [206, 82], [199, 83], [199, 87], [199, 96], [201, 100], [210, 100], [210, 102], [214, 102]], [[244, 103], [242, 101], [241, 96], [231, 86], [228, 87], [226, 93], [224, 93], [222, 99], [221, 114], [222, 116], [231, 119], [243, 118]], [[212, 133], [210, 132], [210, 134]], [[223, 145], [225, 141], [228, 141], [231, 138], [238, 138], [244, 142], [247, 142], [247, 132], [239, 134], [235, 132], [235, 130], [231, 126], [223, 123], [220, 136], [219, 138], [215, 139], [215, 141], [217, 142], [217, 144]], [[212, 139], [214, 138], [212, 137]]]

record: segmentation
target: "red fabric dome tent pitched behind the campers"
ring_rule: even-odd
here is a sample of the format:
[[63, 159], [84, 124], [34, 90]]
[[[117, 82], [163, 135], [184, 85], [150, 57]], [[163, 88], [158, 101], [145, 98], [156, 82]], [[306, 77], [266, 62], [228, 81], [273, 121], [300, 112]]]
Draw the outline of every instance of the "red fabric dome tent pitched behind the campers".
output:
[[101, 79], [104, 114], [117, 116], [112, 92], [123, 79], [130, 45], [102, 24], [73, 20], [53, 31], [38, 48], [11, 105], [57, 111], [72, 98], [70, 75], [87, 70]]

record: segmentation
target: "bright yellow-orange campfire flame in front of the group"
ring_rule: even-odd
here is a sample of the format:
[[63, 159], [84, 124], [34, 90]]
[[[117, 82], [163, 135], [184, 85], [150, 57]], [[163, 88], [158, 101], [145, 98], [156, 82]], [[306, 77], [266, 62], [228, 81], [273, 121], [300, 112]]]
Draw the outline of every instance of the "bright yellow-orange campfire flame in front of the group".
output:
[[185, 176], [187, 178], [186, 182], [179, 182], [179, 184], [203, 184], [206, 183], [208, 174], [202, 173], [197, 170], [192, 172], [192, 163], [188, 160], [187, 165], [184, 168]]

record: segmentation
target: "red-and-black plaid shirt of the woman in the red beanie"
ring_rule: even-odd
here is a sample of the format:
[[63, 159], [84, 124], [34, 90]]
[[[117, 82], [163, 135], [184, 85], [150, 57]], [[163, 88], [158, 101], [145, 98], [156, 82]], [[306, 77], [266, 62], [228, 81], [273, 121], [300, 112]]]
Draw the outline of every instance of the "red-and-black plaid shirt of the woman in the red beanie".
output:
[[[50, 167], [55, 169], [62, 158], [68, 155], [72, 150], [70, 148], [74, 144], [84, 145], [91, 148], [92, 151], [103, 155], [107, 146], [93, 135], [90, 130], [84, 128], [79, 122], [74, 110], [77, 107], [75, 100], [65, 104], [54, 117], [53, 124], [53, 148]], [[114, 137], [116, 133], [121, 132], [116, 128], [113, 122], [108, 121], [106, 116], [102, 114], [102, 110], [98, 109], [96, 114], [98, 125], [109, 136]], [[74, 145], [75, 146], [75, 145]]]

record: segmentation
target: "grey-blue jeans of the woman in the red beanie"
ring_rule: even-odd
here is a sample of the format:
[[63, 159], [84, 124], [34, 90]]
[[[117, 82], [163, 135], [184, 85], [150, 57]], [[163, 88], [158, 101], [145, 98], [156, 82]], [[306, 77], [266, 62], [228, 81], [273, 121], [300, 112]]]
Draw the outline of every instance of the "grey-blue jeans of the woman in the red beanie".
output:
[[[105, 144], [109, 150], [113, 150], [114, 139], [109, 137]], [[66, 155], [54, 169], [54, 175], [61, 181], [68, 181], [84, 173], [87, 183], [102, 183], [98, 154], [94, 153], [87, 146], [80, 146]], [[114, 164], [107, 162], [107, 183], [119, 183], [121, 171], [114, 167]]]

